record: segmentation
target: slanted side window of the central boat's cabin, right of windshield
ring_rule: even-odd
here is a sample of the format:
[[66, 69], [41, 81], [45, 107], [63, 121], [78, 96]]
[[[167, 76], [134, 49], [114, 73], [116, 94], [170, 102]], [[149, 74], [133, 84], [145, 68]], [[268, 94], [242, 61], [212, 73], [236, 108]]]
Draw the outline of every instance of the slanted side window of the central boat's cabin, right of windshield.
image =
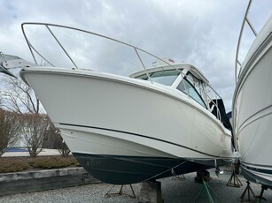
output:
[[202, 98], [200, 97], [200, 95], [198, 94], [197, 90], [190, 85], [190, 82], [187, 81], [187, 79], [183, 79], [181, 81], [181, 83], [176, 87], [178, 90], [182, 91], [185, 94], [189, 94], [189, 96], [195, 100], [196, 102], [198, 102], [199, 104], [201, 104], [205, 109], [206, 109], [206, 105], [203, 102]]

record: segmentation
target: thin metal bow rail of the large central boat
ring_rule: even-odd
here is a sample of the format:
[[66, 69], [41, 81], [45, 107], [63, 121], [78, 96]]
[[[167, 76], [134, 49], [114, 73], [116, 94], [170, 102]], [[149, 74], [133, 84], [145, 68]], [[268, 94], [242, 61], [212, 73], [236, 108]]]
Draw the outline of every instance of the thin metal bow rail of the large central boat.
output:
[[[49, 33], [51, 34], [51, 36], [55, 39], [55, 41], [57, 41], [58, 45], [60, 46], [60, 48], [65, 52], [66, 56], [69, 58], [69, 60], [72, 62], [72, 64], [74, 64], [74, 67], [76, 69], [78, 69], [79, 67], [74, 63], [74, 60], [73, 58], [68, 54], [68, 52], [66, 51], [65, 47], [61, 44], [61, 42], [58, 40], [57, 36], [52, 32], [51, 30], [51, 26], [56, 26], [56, 27], [61, 27], [61, 28], [65, 28], [65, 29], [71, 29], [71, 30], [75, 30], [75, 31], [79, 31], [79, 32], [82, 32], [82, 33], [86, 33], [86, 34], [92, 34], [92, 35], [96, 35], [98, 37], [102, 37], [102, 38], [105, 38], [106, 40], [110, 40], [110, 41], [115, 41], [115, 42], [118, 42], [120, 44], [123, 44], [123, 45], [126, 45], [132, 49], [134, 49], [136, 51], [136, 56], [138, 57], [138, 59], [140, 60], [140, 63], [142, 64], [143, 68], [144, 68], [144, 71], [145, 71], [145, 74], [147, 75], [148, 79], [152, 82], [152, 79], [150, 77], [150, 74], [148, 72], [148, 70], [146, 69], [145, 65], [144, 65], [144, 62], [143, 62], [143, 59], [141, 58], [141, 56], [139, 55], [139, 51], [149, 55], [149, 56], [152, 56], [156, 59], [158, 59], [159, 61], [175, 68], [176, 71], [179, 71], [183, 77], [184, 77], [184, 73], [179, 69], [177, 68], [175, 65], [173, 64], [170, 64], [167, 62], [167, 60], [164, 60], [162, 58], [160, 58], [159, 56], [155, 56], [153, 55], [152, 53], [148, 52], [148, 51], [145, 51], [144, 49], [140, 49], [140, 48], [137, 48], [136, 46], [134, 45], [131, 45], [131, 44], [128, 44], [127, 42], [124, 42], [124, 41], [119, 41], [119, 40], [116, 40], [116, 39], [113, 39], [111, 37], [108, 37], [108, 36], [105, 36], [105, 35], [102, 35], [102, 34], [97, 34], [97, 33], [93, 33], [93, 32], [89, 32], [89, 31], [86, 31], [86, 30], [83, 30], [83, 29], [80, 29], [80, 28], [75, 28], [75, 27], [72, 27], [72, 26], [61, 26], [61, 25], [56, 25], [56, 24], [50, 24], [50, 23], [39, 23], [39, 22], [27, 22], [27, 23], [23, 23], [21, 24], [21, 29], [22, 29], [22, 33], [27, 41], [27, 46], [31, 52], [31, 55], [35, 61], [35, 64], [37, 64], [37, 60], [36, 60], [36, 57], [35, 57], [35, 54], [36, 53], [38, 56], [41, 56], [43, 58], [43, 60], [45, 62], [47, 62], [48, 64], [50, 64], [51, 66], [55, 66], [54, 64], [52, 64], [49, 60], [47, 60], [42, 54], [39, 53], [39, 51], [37, 49], [35, 49], [35, 47], [31, 44], [31, 42], [28, 40], [27, 38], [27, 34], [25, 32], [25, 27], [26, 26], [45, 26], [47, 28], [47, 30], [49, 31]], [[205, 83], [205, 86], [206, 87], [209, 87], [215, 94], [215, 99], [217, 97], [221, 98], [221, 96], [219, 94], [216, 93], [216, 91], [214, 90], [214, 88], [212, 86], [210, 86], [209, 84]], [[205, 87], [205, 88], [206, 88]], [[185, 87], [186, 88], [186, 87]], [[188, 96], [189, 95], [189, 92], [186, 88], [186, 94]], [[210, 107], [209, 107], [209, 102], [213, 102], [214, 106], [216, 106], [216, 109], [217, 109], [217, 116], [218, 116], [218, 119], [221, 121], [221, 115], [220, 115], [220, 111], [219, 111], [219, 108], [218, 108], [218, 104], [215, 103], [213, 101], [213, 99], [206, 93], [206, 91], [203, 91], [203, 94], [205, 94], [206, 96], [206, 105], [207, 105], [207, 109], [208, 110], [211, 110]], [[203, 95], [202, 95], [203, 97]]]

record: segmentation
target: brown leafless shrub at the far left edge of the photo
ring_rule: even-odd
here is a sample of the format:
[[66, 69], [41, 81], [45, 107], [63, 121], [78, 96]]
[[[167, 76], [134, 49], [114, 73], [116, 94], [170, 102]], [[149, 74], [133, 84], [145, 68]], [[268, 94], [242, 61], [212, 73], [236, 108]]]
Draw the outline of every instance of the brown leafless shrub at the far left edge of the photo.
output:
[[22, 119], [18, 113], [0, 109], [0, 156], [19, 139]]

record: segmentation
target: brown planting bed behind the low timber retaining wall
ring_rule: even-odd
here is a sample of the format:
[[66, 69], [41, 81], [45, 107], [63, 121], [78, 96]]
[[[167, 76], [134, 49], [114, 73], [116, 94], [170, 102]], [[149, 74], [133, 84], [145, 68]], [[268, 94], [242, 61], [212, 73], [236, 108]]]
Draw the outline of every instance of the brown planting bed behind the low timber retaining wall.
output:
[[30, 157], [0, 157], [0, 173], [11, 173], [36, 169], [60, 169], [79, 166], [73, 155]]

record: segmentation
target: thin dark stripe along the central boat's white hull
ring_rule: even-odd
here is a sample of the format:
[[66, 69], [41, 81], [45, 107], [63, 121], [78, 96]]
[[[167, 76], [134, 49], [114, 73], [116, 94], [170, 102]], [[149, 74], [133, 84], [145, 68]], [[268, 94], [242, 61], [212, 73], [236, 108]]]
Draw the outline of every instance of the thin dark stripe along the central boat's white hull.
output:
[[206, 153], [200, 152], [200, 151], [198, 151], [198, 150], [196, 150], [196, 149], [193, 149], [193, 148], [190, 148], [190, 147], [185, 147], [185, 146], [176, 144], [176, 143], [174, 143], [174, 142], [169, 142], [169, 141], [163, 140], [163, 139], [156, 139], [156, 138], [152, 138], [152, 137], [149, 137], [149, 136], [146, 136], [146, 135], [137, 134], [137, 133], [134, 133], [134, 132], [123, 132], [123, 131], [119, 131], [119, 130], [113, 130], [113, 129], [95, 127], [95, 126], [88, 126], [88, 125], [81, 125], [81, 124], [64, 124], [64, 123], [59, 123], [59, 124], [68, 125], [68, 126], [75, 126], [75, 127], [92, 128], [92, 129], [103, 130], [103, 131], [109, 131], [109, 132], [126, 133], [126, 134], [130, 134], [130, 135], [134, 135], [134, 136], [138, 136], [138, 137], [142, 137], [142, 138], [146, 138], [146, 139], [154, 139], [154, 140], [161, 141], [161, 142], [165, 142], [165, 143], [168, 143], [168, 144], [171, 144], [171, 145], [175, 145], [175, 146], [178, 146], [178, 147], [183, 147], [183, 148], [189, 149], [189, 150], [191, 150], [191, 151], [197, 152], [197, 153], [199, 153], [199, 154], [205, 154], [205, 155], [208, 155], [208, 156], [212, 156], [212, 157], [214, 157], [214, 158], [229, 158], [229, 157], [214, 156], [214, 155], [212, 155], [212, 154], [206, 154]]

